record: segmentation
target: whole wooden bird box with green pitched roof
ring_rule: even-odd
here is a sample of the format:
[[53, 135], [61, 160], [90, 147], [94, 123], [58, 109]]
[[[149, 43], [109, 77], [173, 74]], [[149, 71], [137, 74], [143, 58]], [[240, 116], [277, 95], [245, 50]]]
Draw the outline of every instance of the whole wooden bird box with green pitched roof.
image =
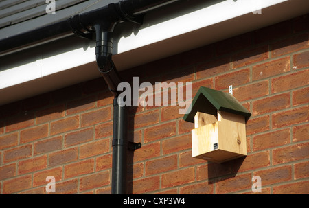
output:
[[251, 113], [233, 95], [201, 86], [189, 110], [183, 119], [194, 123], [192, 157], [222, 163], [247, 155]]

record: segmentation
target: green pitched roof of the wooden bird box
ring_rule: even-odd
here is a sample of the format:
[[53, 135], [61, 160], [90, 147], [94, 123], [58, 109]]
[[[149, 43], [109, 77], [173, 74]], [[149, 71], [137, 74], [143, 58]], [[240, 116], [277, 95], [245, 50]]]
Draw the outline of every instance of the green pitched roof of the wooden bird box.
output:
[[251, 116], [247, 108], [244, 108], [233, 95], [205, 86], [201, 86], [200, 89], [198, 89], [191, 106], [191, 111], [189, 111], [189, 108], [187, 113], [183, 116], [186, 122], [194, 123], [194, 116], [198, 111], [211, 115], [217, 115], [218, 111], [226, 111], [244, 116], [246, 122]]

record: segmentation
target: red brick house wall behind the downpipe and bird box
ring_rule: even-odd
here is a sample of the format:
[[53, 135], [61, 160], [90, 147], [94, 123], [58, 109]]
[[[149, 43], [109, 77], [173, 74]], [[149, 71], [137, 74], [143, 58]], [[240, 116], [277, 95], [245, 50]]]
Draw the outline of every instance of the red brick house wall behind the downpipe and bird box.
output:
[[[192, 123], [176, 106], [131, 107], [128, 154], [133, 194], [309, 193], [308, 15], [121, 73], [126, 81], [192, 82], [227, 91], [252, 113], [247, 157], [193, 159]], [[209, 35], [209, 34], [208, 34]], [[113, 97], [103, 78], [0, 106], [1, 194], [111, 192]]]

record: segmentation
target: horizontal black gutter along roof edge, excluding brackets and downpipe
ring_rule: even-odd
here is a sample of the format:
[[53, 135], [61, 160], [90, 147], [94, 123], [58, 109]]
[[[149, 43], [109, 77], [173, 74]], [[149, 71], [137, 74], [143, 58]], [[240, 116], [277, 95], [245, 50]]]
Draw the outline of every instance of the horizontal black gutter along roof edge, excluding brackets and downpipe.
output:
[[[149, 10], [159, 8], [167, 3], [179, 0], [124, 0], [114, 3], [117, 8], [121, 8], [123, 16], [130, 19], [135, 14], [145, 14]], [[79, 15], [82, 19], [82, 25], [91, 25], [97, 19], [110, 19], [108, 5], [91, 10], [89, 12], [81, 12]], [[69, 18], [70, 16], [68, 16]], [[14, 34], [0, 39], [0, 56], [4, 56], [18, 49], [23, 49], [33, 45], [52, 41], [65, 35], [73, 34], [68, 19], [62, 19], [43, 27], [37, 27], [27, 32]]]

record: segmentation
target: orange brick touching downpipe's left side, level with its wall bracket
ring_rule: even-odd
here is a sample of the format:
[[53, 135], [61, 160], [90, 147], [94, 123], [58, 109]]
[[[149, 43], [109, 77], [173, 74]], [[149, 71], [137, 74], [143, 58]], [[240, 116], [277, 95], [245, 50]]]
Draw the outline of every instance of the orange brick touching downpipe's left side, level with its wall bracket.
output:
[[109, 139], [100, 139], [80, 146], [80, 159], [104, 154], [109, 151]]

